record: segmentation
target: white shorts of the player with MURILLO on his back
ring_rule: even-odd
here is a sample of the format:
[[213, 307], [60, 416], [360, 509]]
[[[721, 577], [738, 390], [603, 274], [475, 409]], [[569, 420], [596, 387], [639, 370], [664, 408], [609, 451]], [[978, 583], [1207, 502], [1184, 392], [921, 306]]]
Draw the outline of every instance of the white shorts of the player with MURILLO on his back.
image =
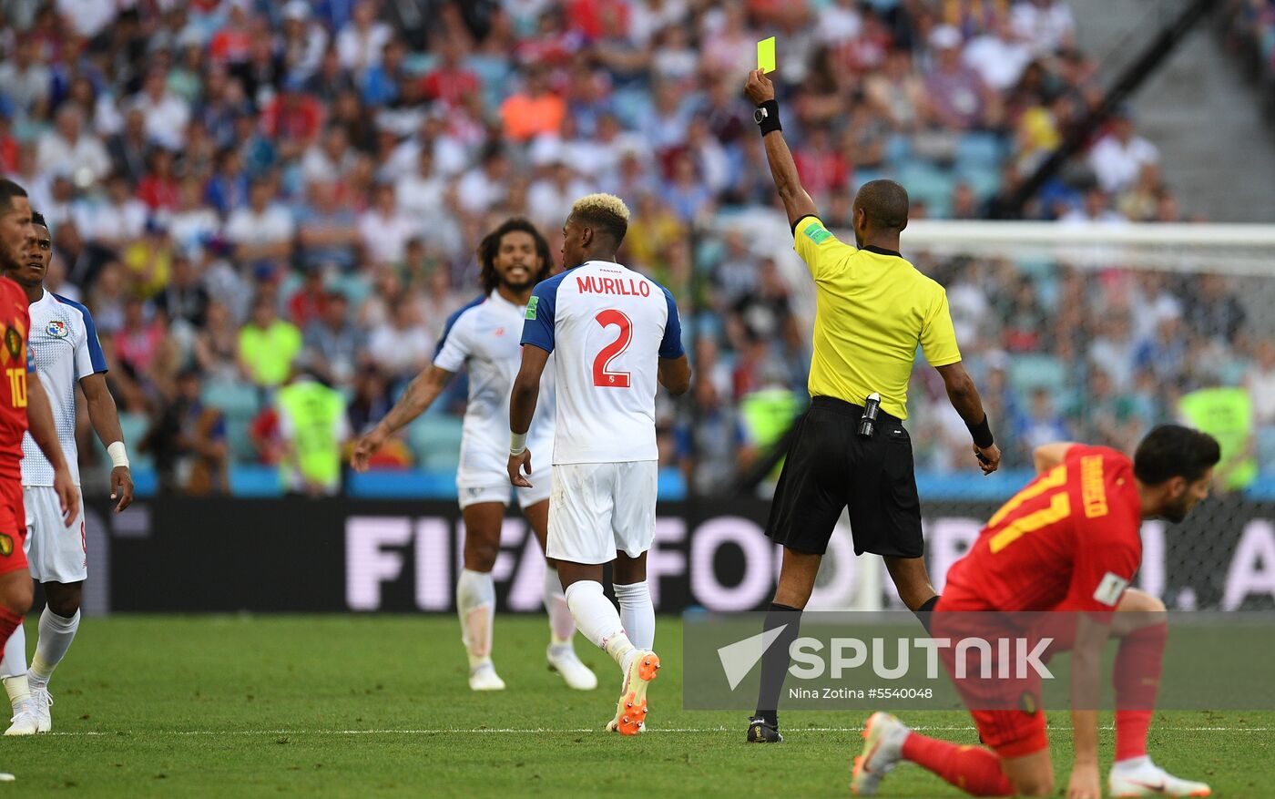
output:
[[609, 563], [616, 550], [636, 558], [650, 549], [658, 476], [655, 461], [555, 465], [546, 556]]

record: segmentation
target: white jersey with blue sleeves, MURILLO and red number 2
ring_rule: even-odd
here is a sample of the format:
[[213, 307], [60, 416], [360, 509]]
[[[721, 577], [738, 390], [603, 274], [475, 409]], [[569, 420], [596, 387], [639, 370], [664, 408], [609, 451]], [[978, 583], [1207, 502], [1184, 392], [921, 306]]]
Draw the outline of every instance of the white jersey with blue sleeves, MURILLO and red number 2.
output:
[[556, 354], [555, 465], [659, 458], [659, 359], [685, 352], [667, 288], [609, 260], [585, 262], [536, 286], [527, 345]]

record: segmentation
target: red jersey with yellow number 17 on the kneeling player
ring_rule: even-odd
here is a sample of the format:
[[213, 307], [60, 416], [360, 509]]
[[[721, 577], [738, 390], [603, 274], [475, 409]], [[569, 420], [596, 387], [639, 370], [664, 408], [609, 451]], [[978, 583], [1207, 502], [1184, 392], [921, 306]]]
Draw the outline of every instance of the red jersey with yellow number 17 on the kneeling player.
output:
[[1142, 560], [1140, 527], [1128, 456], [1076, 444], [988, 521], [938, 609], [1114, 610]]

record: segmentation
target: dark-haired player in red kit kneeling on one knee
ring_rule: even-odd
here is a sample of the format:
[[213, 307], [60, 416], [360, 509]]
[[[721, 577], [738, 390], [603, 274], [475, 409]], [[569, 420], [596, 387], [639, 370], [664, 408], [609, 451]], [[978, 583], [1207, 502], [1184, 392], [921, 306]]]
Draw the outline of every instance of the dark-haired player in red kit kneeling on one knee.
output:
[[[1119, 638], [1111, 795], [1210, 794], [1204, 782], [1174, 777], [1146, 756], [1167, 627], [1164, 605], [1130, 590], [1128, 583], [1142, 558], [1141, 519], [1176, 523], [1186, 518], [1207, 497], [1219, 457], [1210, 435], [1178, 425], [1151, 430], [1132, 461], [1105, 447], [1040, 447], [1035, 452], [1039, 476], [991, 518], [947, 574], [935, 608], [936, 627], [943, 614], [955, 620], [956, 614], [1070, 611], [1067, 618], [1075, 619], [1074, 638], [1067, 641], [1075, 734], [1067, 796], [1102, 795], [1098, 711], [1090, 710], [1093, 699], [1081, 697], [1098, 696], [1102, 645], [1109, 636]], [[951, 669], [950, 660], [945, 665]], [[975, 796], [1053, 794], [1053, 765], [1039, 707], [989, 710], [960, 675], [956, 682], [987, 748], [927, 738], [889, 713], [873, 713], [864, 726], [863, 754], [854, 761], [856, 794], [875, 795], [881, 779], [900, 761], [917, 763]]]

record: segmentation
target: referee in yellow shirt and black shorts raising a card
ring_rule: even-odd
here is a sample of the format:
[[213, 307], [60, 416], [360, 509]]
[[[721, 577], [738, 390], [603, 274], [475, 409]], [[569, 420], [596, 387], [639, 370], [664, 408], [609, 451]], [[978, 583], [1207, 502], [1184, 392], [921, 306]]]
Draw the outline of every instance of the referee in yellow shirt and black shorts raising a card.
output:
[[[815, 351], [811, 403], [797, 421], [766, 535], [783, 544], [779, 587], [765, 629], [783, 627], [761, 661], [757, 712], [748, 740], [776, 743], [778, 703], [797, 638], [801, 611], [841, 509], [848, 508], [854, 553], [885, 558], [904, 604], [928, 620], [938, 601], [922, 558], [921, 502], [912, 466], [908, 377], [917, 345], [947, 387], [952, 407], [974, 439], [972, 457], [984, 474], [1001, 452], [974, 382], [960, 362], [943, 287], [899, 253], [908, 225], [908, 193], [892, 180], [873, 180], [854, 198], [854, 244], [843, 244], [819, 220], [802, 188], [779, 126], [775, 91], [761, 70], [745, 86], [766, 147], [775, 188], [793, 226], [793, 246], [815, 278]], [[873, 424], [864, 411], [880, 397]], [[867, 419], [864, 419], [867, 416]]]

